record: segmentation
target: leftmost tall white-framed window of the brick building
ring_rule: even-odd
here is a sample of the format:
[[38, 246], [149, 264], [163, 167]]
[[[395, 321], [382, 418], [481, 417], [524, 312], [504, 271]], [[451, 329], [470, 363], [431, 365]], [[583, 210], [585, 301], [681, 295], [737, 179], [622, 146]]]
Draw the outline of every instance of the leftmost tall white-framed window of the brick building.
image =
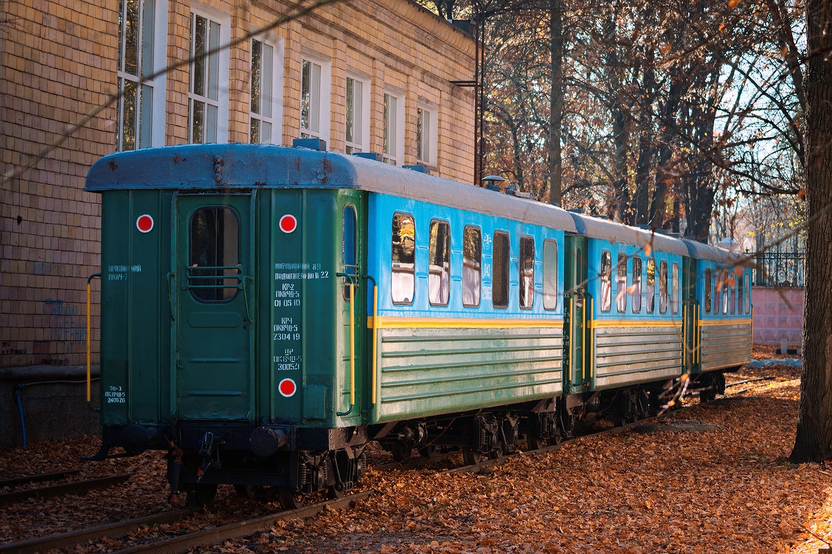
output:
[[[132, 150], [133, 148], [147, 148], [161, 146], [165, 143], [165, 89], [167, 61], [167, 0], [136, 0], [139, 4], [140, 29], [136, 37], [136, 74], [125, 72], [126, 33], [119, 29], [121, 39], [119, 47], [119, 67], [116, 71], [116, 82], [120, 93], [117, 106], [116, 121], [116, 151]], [[124, 14], [127, 2], [120, 2], [122, 11], [121, 24], [126, 25]], [[154, 73], [159, 75], [150, 79]], [[143, 82], [142, 82], [143, 81]], [[129, 98], [125, 94], [127, 83], [136, 87], [136, 118], [132, 129], [132, 148], [125, 148], [125, 101]]]

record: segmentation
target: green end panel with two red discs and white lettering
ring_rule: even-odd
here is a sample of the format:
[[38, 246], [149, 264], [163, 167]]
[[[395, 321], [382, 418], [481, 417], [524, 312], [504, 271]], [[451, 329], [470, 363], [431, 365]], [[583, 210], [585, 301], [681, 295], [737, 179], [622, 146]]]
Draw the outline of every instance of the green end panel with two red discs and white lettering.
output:
[[[269, 374], [264, 413], [279, 423], [344, 427], [361, 423], [366, 334], [366, 283], [354, 279], [350, 375], [349, 301], [346, 273], [361, 275], [364, 236], [357, 233], [357, 259], [344, 267], [344, 209], [355, 210], [354, 230], [364, 217], [358, 190], [271, 190], [269, 235], [270, 291], [262, 309], [270, 314]], [[296, 221], [287, 232], [285, 217]], [[354, 233], [355, 234], [355, 233]], [[264, 270], [265, 271], [265, 270]], [[284, 387], [281, 388], [281, 383]], [[287, 392], [294, 391], [291, 394]], [[350, 406], [351, 398], [354, 405]], [[339, 416], [338, 414], [343, 414]]]

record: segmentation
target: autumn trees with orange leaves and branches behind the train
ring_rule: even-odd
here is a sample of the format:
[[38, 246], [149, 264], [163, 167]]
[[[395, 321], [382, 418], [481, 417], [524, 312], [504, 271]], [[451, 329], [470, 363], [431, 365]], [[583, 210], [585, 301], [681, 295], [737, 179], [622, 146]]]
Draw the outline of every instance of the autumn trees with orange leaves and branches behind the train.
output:
[[562, 205], [700, 240], [738, 199], [802, 187], [802, 0], [425, 2], [481, 17], [486, 172], [538, 200], [552, 136]]

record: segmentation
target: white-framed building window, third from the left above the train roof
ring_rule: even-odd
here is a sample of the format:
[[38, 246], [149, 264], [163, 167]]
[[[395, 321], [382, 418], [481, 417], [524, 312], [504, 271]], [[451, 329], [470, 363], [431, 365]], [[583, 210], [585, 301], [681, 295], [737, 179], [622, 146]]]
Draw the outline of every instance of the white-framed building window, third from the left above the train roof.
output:
[[[251, 129], [258, 126], [260, 144], [280, 144], [283, 138], [283, 39], [272, 35], [257, 36], [251, 39], [251, 78], [254, 72], [254, 43], [260, 42], [260, 113], [251, 110], [255, 100], [255, 87], [251, 83], [251, 101], [249, 103], [249, 141], [252, 139]], [[268, 49], [271, 50], [270, 60], [267, 59]], [[265, 126], [270, 131], [264, 132]]]

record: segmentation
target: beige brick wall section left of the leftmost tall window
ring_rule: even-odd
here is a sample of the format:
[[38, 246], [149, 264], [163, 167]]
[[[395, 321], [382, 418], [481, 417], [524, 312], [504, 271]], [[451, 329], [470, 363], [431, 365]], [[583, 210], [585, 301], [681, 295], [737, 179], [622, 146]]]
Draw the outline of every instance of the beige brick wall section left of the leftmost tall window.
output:
[[[2, 367], [86, 358], [86, 285], [98, 271], [100, 206], [82, 188], [92, 162], [115, 144], [116, 111], [108, 101], [115, 88], [117, 2], [65, 3], [3, 2]], [[96, 306], [94, 329], [97, 313]]]

